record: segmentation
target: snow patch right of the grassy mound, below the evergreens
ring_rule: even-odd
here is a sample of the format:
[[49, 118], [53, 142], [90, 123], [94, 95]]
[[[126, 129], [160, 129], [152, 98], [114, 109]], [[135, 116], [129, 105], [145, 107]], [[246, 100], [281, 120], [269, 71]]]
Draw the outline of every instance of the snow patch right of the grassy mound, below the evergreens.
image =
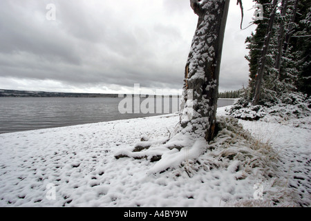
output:
[[243, 122], [243, 126], [252, 131], [254, 136], [260, 137], [263, 142], [269, 142], [279, 151], [281, 161], [279, 176], [296, 191], [301, 198], [301, 203], [310, 206], [311, 121], [310, 117], [305, 117], [305, 120], [308, 122], [308, 128], [292, 126], [288, 122], [284, 124]]

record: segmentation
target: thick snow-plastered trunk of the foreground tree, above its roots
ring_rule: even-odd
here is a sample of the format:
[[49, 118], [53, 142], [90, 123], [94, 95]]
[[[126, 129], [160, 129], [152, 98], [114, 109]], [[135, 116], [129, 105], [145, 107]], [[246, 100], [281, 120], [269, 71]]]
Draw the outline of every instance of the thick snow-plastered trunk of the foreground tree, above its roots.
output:
[[229, 0], [190, 0], [198, 25], [185, 67], [180, 126], [209, 142], [216, 127], [220, 59]]

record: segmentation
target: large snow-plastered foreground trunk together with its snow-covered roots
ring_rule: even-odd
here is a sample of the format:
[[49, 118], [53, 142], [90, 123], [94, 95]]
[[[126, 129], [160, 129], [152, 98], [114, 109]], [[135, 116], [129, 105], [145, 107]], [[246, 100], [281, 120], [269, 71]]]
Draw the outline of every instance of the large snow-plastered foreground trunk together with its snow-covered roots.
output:
[[148, 173], [158, 173], [195, 159], [206, 151], [216, 128], [220, 58], [229, 0], [190, 0], [198, 26], [185, 68], [180, 124], [169, 138], [145, 140], [115, 158], [158, 161]]

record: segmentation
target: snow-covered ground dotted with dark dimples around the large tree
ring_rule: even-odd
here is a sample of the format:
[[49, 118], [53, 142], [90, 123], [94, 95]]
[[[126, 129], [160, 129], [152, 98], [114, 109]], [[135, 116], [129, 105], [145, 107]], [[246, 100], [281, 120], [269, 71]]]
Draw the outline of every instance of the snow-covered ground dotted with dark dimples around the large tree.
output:
[[183, 166], [164, 173], [150, 172], [158, 162], [115, 158], [141, 137], [169, 137], [178, 120], [171, 114], [1, 134], [0, 206], [310, 206], [310, 117], [299, 119], [303, 126], [239, 120], [274, 148], [279, 161], [268, 176], [260, 157], [247, 163], [257, 160], [253, 169], [211, 158], [224, 153], [217, 148], [196, 160], [185, 149]]

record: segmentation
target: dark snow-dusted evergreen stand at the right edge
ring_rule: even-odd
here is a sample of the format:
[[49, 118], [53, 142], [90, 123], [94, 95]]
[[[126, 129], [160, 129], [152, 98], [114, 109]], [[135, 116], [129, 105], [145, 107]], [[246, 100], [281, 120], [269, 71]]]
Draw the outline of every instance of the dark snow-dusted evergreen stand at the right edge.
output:
[[[283, 93], [297, 89], [310, 95], [310, 1], [280, 1], [273, 22], [271, 15], [276, 1], [254, 2], [263, 5], [264, 19], [254, 21], [256, 30], [245, 41], [249, 49], [245, 57], [249, 61], [249, 89], [245, 99], [249, 102], [254, 97], [258, 68], [264, 68], [263, 93], [254, 104], [276, 103]], [[271, 26], [267, 30], [269, 22]], [[270, 42], [267, 45], [268, 33]]]

